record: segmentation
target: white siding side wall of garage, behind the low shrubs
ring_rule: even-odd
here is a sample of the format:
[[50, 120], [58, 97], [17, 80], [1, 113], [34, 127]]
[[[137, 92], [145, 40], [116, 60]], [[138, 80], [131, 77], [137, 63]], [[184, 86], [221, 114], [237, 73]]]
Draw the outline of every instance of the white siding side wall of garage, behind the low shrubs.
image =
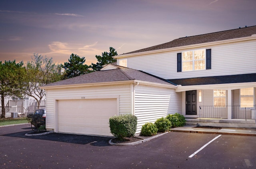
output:
[[138, 118], [136, 134], [146, 122], [154, 123], [168, 114], [182, 112], [181, 92], [174, 89], [139, 85], [135, 87], [134, 114]]

